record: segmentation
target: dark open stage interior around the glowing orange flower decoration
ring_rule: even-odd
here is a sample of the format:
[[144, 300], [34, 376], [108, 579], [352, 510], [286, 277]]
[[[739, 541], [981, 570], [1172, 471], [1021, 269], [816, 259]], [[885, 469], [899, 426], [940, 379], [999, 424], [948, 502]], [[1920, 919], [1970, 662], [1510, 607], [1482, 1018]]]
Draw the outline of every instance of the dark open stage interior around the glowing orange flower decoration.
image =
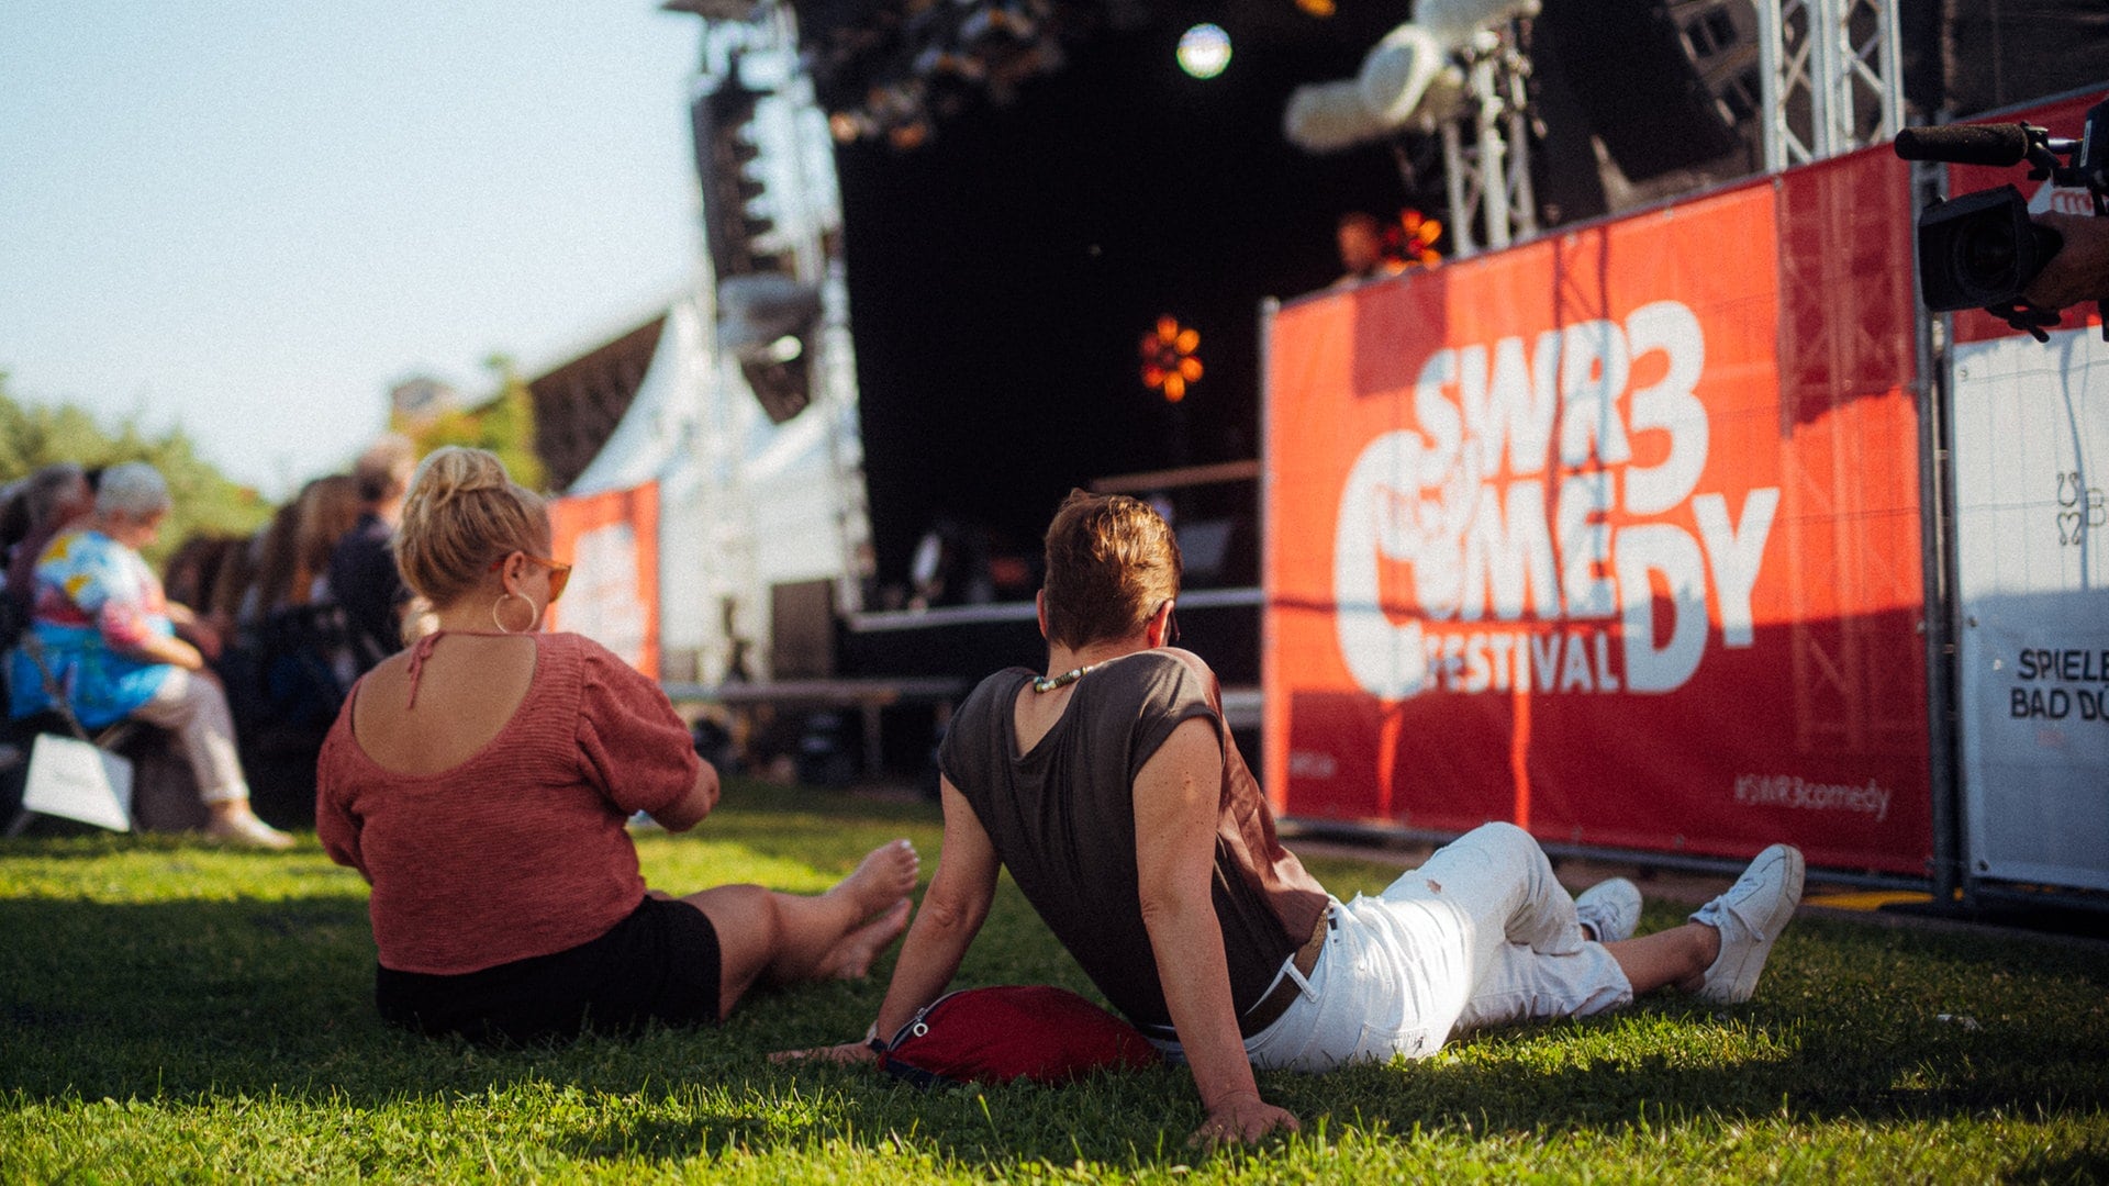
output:
[[[882, 587], [939, 519], [1029, 555], [1071, 485], [1257, 456], [1261, 298], [1333, 281], [1339, 213], [1407, 205], [1388, 148], [1280, 131], [1293, 87], [1354, 74], [1360, 34], [1230, 27], [1230, 68], [1196, 80], [1185, 27], [1101, 32], [922, 148], [837, 150]], [[1141, 378], [1160, 314], [1200, 333], [1177, 405]]]

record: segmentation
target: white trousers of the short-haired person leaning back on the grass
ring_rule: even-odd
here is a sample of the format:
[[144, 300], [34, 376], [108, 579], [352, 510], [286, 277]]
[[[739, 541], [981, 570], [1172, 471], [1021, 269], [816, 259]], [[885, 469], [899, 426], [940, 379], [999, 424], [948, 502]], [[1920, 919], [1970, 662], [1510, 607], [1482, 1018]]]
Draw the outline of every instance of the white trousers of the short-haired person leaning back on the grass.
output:
[[[1295, 975], [1295, 969], [1289, 969]], [[1333, 901], [1303, 996], [1246, 1038], [1265, 1070], [1426, 1057], [1453, 1034], [1531, 1017], [1586, 1017], [1632, 1000], [1529, 831], [1487, 823], [1377, 897]]]

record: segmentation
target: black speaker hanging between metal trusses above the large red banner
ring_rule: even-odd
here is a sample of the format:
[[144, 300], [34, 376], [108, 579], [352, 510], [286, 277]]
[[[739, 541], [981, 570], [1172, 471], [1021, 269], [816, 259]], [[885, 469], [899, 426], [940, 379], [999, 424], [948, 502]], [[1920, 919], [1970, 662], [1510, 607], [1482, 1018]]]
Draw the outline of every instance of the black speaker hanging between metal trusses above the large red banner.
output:
[[1632, 181], [1691, 169], [1757, 137], [1750, 0], [1550, 0], [1561, 70]]

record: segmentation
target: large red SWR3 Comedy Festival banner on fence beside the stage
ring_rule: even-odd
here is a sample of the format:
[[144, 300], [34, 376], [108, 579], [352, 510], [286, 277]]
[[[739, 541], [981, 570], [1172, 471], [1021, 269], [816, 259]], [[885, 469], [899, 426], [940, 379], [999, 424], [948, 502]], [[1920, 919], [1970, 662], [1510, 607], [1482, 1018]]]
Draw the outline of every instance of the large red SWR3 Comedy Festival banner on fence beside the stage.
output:
[[1282, 308], [1276, 806], [1923, 872], [1904, 196], [1879, 150]]

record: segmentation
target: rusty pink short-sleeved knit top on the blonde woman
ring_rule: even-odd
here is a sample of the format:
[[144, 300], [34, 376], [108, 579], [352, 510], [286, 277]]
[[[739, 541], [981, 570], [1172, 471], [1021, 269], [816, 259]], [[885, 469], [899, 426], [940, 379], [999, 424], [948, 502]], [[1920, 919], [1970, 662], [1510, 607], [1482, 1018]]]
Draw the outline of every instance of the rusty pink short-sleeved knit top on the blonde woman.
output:
[[580, 635], [536, 635], [527, 696], [475, 758], [439, 774], [378, 766], [337, 713], [316, 766], [323, 848], [373, 884], [384, 967], [470, 973], [576, 948], [643, 899], [624, 821], [696, 783], [666, 694]]

